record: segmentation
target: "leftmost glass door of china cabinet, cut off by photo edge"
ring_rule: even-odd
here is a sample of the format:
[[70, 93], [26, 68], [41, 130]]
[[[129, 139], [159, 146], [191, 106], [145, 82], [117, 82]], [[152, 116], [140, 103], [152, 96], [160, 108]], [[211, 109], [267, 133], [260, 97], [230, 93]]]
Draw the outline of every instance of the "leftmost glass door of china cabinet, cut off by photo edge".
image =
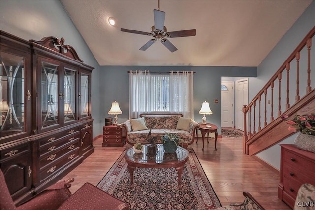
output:
[[[25, 132], [25, 58], [1, 52], [0, 137]], [[29, 96], [30, 100], [30, 96]]]

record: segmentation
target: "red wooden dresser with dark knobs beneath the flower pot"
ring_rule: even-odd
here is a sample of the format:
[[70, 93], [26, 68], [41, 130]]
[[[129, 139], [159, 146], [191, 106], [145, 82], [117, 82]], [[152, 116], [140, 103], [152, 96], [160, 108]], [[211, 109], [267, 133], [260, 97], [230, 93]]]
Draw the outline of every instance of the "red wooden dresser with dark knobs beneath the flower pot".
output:
[[298, 149], [292, 144], [281, 144], [280, 183], [278, 198], [291, 208], [300, 186], [315, 185], [315, 153]]

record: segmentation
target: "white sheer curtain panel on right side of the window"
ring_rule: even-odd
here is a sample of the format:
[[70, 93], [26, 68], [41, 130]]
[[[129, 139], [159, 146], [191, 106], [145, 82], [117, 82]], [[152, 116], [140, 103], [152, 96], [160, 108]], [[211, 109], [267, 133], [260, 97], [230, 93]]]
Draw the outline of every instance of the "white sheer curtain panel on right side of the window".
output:
[[169, 111], [193, 119], [193, 71], [171, 71], [169, 91]]

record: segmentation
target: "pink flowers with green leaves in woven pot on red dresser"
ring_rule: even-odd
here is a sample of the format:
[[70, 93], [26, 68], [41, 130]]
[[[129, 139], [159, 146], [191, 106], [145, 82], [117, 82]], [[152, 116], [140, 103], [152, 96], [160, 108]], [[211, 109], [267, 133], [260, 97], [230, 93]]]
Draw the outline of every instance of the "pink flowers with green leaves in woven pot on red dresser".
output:
[[282, 115], [282, 119], [289, 124], [288, 130], [300, 133], [296, 136], [294, 144], [301, 150], [315, 153], [315, 114], [295, 115], [292, 120]]

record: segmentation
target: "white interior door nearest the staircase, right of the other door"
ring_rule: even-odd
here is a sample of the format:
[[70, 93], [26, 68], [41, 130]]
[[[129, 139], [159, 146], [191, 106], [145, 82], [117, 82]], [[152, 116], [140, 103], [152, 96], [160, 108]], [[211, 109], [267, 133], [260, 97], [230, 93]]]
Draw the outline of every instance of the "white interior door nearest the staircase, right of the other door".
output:
[[235, 81], [236, 123], [235, 127], [244, 131], [243, 106], [248, 104], [248, 78]]

